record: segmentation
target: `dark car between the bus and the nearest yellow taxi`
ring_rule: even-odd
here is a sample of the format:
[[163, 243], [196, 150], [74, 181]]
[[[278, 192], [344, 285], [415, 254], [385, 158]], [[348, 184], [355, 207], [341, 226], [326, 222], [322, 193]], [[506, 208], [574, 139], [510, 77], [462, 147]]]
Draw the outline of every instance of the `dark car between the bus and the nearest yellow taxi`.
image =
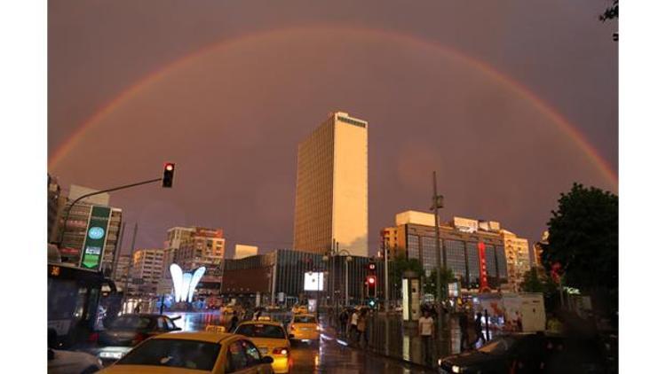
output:
[[123, 315], [99, 331], [97, 354], [102, 361], [115, 361], [141, 341], [170, 331], [180, 331], [174, 319], [162, 315]]

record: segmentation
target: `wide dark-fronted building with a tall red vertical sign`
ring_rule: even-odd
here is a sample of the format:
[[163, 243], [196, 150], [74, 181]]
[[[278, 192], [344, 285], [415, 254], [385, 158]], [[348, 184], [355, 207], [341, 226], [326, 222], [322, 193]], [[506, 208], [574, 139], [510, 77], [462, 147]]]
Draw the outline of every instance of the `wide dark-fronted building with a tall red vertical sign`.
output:
[[[498, 289], [508, 282], [507, 261], [499, 222], [480, 222], [454, 217], [440, 224], [442, 266], [453, 271], [462, 287], [478, 290], [481, 260], [485, 259], [488, 286]], [[437, 267], [434, 214], [407, 211], [395, 216], [395, 226], [383, 230], [385, 242], [394, 244], [391, 252], [423, 265], [426, 276]], [[391, 236], [392, 238], [387, 238]]]

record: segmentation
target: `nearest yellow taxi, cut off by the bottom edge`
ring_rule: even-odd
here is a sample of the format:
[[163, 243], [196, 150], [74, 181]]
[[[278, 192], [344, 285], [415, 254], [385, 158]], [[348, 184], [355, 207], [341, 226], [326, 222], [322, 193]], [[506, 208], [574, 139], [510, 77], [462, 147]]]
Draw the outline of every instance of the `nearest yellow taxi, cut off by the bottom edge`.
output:
[[273, 358], [250, 339], [216, 332], [169, 332], [146, 339], [100, 373], [273, 373]]

